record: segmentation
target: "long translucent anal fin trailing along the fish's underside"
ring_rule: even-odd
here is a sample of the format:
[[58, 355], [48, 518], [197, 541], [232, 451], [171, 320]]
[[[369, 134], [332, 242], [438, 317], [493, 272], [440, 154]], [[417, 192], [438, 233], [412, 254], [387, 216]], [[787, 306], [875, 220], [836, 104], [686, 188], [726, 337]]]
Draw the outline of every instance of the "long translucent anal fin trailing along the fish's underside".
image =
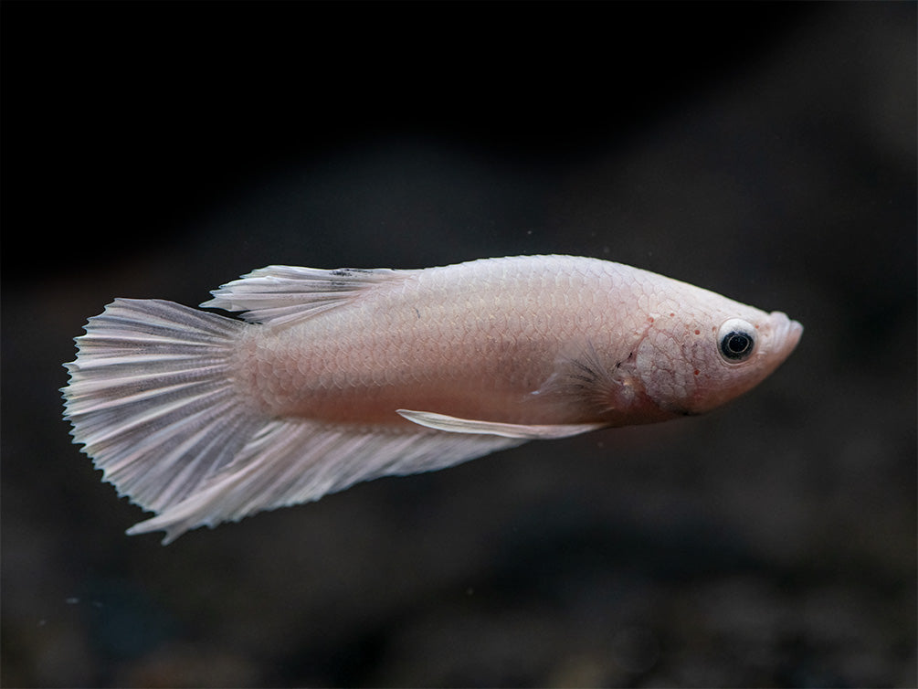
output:
[[128, 533], [165, 530], [163, 544], [200, 525], [319, 500], [354, 483], [387, 475], [442, 469], [525, 440], [497, 435], [353, 429], [304, 421], [274, 421], [207, 484]]

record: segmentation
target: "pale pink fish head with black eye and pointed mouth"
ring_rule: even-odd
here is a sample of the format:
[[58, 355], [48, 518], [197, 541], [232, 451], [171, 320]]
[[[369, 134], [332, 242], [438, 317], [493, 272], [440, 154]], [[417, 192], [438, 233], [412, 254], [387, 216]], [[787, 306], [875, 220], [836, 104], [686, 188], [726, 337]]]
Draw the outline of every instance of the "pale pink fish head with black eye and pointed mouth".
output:
[[649, 318], [634, 370], [647, 397], [677, 414], [708, 412], [755, 388], [790, 355], [803, 327], [781, 311], [760, 311], [698, 290]]

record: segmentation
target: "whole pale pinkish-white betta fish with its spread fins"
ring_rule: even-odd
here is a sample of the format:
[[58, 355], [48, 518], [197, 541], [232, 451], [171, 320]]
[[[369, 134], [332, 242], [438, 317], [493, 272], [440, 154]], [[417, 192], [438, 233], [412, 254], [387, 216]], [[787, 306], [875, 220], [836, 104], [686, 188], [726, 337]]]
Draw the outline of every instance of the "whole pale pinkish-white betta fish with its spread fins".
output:
[[534, 438], [707, 412], [800, 323], [574, 256], [424, 270], [272, 265], [203, 307], [116, 299], [76, 338], [74, 442], [156, 516], [129, 534], [318, 500]]

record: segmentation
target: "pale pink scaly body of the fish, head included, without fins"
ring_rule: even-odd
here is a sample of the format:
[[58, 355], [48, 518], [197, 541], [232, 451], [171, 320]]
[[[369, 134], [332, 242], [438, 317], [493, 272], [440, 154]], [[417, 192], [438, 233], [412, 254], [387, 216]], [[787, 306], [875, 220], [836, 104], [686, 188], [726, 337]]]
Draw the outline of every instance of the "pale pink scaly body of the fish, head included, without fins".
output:
[[[686, 353], [735, 316], [760, 331], [758, 361], [737, 372], [695, 356], [700, 367], [679, 375]], [[752, 387], [796, 344], [766, 346], [789, 328], [783, 314], [625, 265], [499, 259], [405, 271], [305, 322], [253, 326], [238, 375], [267, 411], [329, 422], [404, 424], [396, 410], [412, 409], [508, 424], [641, 424]], [[663, 346], [638, 367], [648, 337]], [[648, 397], [648, 384], [670, 394]]]

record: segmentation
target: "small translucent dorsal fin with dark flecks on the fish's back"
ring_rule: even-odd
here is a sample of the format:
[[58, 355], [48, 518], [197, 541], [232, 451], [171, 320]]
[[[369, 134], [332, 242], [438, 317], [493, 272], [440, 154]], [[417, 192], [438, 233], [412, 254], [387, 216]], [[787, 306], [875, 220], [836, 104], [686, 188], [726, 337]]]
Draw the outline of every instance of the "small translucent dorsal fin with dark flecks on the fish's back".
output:
[[211, 309], [246, 311], [251, 322], [287, 324], [315, 316], [354, 299], [364, 289], [399, 282], [417, 270], [339, 268], [321, 270], [269, 265], [211, 292], [201, 304]]

